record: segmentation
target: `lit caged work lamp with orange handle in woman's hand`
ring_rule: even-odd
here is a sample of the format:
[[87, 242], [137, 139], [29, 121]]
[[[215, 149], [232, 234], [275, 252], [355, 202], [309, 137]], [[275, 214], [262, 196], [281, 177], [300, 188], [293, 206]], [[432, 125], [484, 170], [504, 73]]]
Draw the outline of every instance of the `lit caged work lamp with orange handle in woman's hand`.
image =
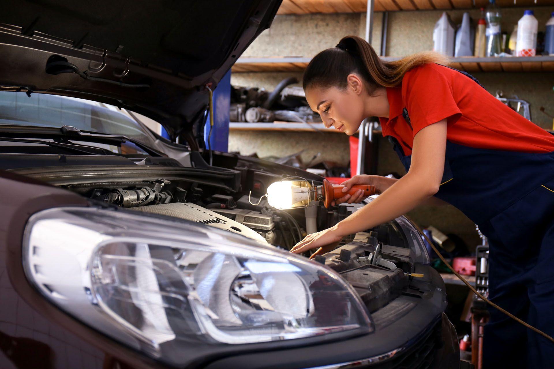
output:
[[372, 185], [353, 185], [347, 192], [342, 192], [343, 188], [343, 185], [331, 184], [326, 179], [322, 185], [316, 186], [304, 178], [293, 177], [270, 184], [266, 196], [269, 205], [276, 209], [293, 209], [309, 206], [314, 201], [323, 201], [325, 207], [329, 207], [335, 199], [346, 194], [352, 196], [358, 190], [363, 191], [363, 196], [376, 194], [376, 188]]

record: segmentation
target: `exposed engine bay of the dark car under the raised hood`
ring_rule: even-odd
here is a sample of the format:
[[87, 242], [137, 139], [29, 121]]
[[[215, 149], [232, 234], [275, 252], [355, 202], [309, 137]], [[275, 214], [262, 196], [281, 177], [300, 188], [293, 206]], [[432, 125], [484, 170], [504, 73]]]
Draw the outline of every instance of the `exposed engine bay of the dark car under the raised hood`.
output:
[[[314, 212], [319, 231], [365, 205], [340, 204], [327, 209], [317, 204], [310, 216], [308, 208], [278, 210], [266, 200], [260, 201], [260, 197], [269, 184], [290, 175], [285, 170], [290, 172], [292, 168], [268, 168], [271, 164], [258, 159], [237, 159], [225, 154], [216, 155], [217, 164], [209, 166], [196, 154], [191, 153], [190, 167], [168, 158], [148, 158], [138, 163], [110, 158], [117, 163], [91, 163], [97, 159], [58, 155], [55, 162], [45, 158], [42, 164], [47, 165], [42, 167], [11, 171], [83, 195], [93, 204], [198, 222], [287, 251], [306, 236], [307, 228], [314, 231], [309, 220]], [[310, 175], [304, 171], [300, 174]], [[308, 179], [315, 184], [322, 180], [314, 175]], [[401, 294], [425, 293], [409, 287], [417, 264], [428, 263], [418, 237], [413, 226], [399, 218], [343, 237], [334, 251], [315, 257], [315, 261], [340, 273], [372, 312]]]

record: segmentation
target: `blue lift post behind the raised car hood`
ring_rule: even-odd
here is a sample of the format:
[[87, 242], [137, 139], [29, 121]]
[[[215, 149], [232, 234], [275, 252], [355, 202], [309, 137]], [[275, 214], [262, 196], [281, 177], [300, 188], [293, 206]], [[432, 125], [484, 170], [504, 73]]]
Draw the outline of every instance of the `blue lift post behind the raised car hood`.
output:
[[[213, 127], [210, 143], [212, 150], [227, 152], [229, 148], [229, 110], [231, 105], [231, 71], [213, 90]], [[209, 115], [204, 126], [204, 142], [208, 147]]]

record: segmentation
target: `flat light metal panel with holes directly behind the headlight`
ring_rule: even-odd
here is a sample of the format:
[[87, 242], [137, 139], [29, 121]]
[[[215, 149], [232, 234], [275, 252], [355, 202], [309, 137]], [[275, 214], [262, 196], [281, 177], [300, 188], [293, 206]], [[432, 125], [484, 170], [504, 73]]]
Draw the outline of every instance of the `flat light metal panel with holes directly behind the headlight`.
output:
[[202, 206], [192, 204], [191, 202], [173, 202], [172, 204], [160, 204], [136, 207], [130, 210], [148, 212], [152, 214], [160, 214], [173, 216], [189, 220], [192, 222], [203, 223], [205, 225], [227, 230], [239, 235], [252, 238], [252, 240], [266, 243], [265, 238], [260, 236], [249, 227], [240, 224], [237, 221], [229, 219], [223, 215], [217, 214], [214, 211], [208, 210]]

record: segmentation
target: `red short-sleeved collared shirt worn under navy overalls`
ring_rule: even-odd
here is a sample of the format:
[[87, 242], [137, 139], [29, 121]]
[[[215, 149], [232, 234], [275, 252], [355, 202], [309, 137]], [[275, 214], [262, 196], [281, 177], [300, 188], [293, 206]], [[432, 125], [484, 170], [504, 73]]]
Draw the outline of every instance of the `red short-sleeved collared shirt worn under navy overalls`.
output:
[[[383, 136], [393, 136], [411, 155], [420, 129], [447, 119], [450, 142], [525, 153], [554, 152], [554, 135], [528, 121], [468, 76], [438, 64], [406, 72], [402, 84], [387, 87], [389, 118], [379, 118]], [[413, 129], [402, 116], [407, 108]]]

